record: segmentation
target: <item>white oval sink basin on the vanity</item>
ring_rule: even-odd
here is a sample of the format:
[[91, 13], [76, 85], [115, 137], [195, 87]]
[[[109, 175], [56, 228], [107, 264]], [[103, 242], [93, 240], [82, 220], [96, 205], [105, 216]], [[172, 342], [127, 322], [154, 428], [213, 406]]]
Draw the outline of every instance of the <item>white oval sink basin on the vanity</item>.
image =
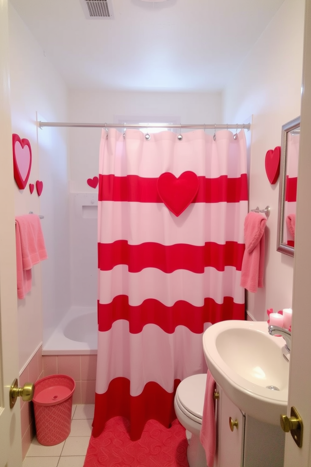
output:
[[284, 344], [282, 337], [270, 336], [266, 321], [221, 321], [203, 334], [214, 380], [243, 412], [273, 425], [279, 425], [287, 411], [289, 361]]

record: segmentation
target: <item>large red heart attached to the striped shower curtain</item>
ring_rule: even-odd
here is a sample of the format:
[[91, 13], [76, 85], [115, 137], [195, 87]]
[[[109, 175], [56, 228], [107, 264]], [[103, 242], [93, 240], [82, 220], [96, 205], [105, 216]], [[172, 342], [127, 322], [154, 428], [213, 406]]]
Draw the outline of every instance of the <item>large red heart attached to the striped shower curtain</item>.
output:
[[157, 189], [163, 203], [178, 217], [194, 200], [199, 190], [199, 178], [191, 171], [183, 172], [178, 178], [165, 172], [158, 178]]

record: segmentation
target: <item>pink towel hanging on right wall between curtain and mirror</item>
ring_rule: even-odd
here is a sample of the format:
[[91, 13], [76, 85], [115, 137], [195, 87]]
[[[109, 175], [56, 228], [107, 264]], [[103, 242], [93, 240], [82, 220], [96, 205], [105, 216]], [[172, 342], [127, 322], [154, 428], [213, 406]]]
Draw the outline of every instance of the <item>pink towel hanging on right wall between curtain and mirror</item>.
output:
[[256, 292], [258, 287], [263, 287], [266, 223], [267, 218], [257, 212], [249, 212], [244, 221], [245, 251], [240, 285], [249, 292]]

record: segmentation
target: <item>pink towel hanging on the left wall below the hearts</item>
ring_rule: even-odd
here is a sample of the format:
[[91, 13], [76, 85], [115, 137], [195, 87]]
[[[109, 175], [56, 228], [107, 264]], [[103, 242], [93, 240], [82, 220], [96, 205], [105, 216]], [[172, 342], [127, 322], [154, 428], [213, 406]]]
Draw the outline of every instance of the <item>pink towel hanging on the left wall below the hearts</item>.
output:
[[25, 298], [31, 290], [31, 268], [47, 259], [41, 221], [35, 214], [15, 218], [17, 297]]

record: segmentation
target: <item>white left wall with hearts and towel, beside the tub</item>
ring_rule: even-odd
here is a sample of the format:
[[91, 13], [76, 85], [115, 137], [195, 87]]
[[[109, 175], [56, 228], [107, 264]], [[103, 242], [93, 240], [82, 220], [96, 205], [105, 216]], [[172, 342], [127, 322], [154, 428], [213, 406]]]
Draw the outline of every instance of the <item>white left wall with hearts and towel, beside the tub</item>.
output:
[[[39, 198], [28, 185], [16, 185], [15, 214], [33, 211], [44, 215], [42, 229], [48, 260], [33, 268], [33, 287], [18, 300], [20, 369], [42, 341], [43, 320], [50, 327], [60, 303], [69, 305], [69, 216], [66, 133], [38, 130], [36, 112], [47, 120], [67, 119], [66, 88], [44, 57], [28, 28], [9, 4], [10, 81], [12, 130], [28, 138], [32, 148], [29, 183], [43, 181]], [[42, 271], [42, 280], [41, 280]], [[67, 285], [66, 285], [67, 283]], [[42, 293], [41, 293], [42, 292]]]

